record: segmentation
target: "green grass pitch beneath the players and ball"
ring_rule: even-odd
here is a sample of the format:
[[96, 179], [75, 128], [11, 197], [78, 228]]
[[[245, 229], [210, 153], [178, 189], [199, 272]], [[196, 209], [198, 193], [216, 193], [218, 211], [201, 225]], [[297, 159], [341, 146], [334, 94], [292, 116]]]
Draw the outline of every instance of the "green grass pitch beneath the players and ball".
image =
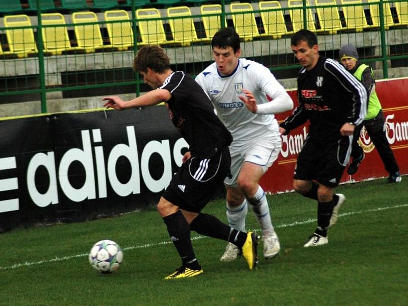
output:
[[[347, 184], [329, 243], [303, 244], [316, 227], [316, 202], [295, 193], [268, 196], [279, 256], [250, 271], [244, 259], [219, 261], [226, 243], [192, 233], [204, 273], [165, 281], [180, 259], [155, 210], [83, 223], [16, 229], [0, 235], [0, 305], [407, 305], [408, 177]], [[205, 212], [226, 221], [224, 200]], [[247, 228], [260, 232], [251, 212]], [[98, 274], [91, 246], [116, 241], [119, 271]]]

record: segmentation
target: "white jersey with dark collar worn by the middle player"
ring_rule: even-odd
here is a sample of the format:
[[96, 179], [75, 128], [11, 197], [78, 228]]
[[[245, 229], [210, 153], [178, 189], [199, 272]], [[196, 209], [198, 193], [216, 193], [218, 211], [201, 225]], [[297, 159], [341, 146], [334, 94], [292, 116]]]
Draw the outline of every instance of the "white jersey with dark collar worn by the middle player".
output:
[[[233, 135], [233, 145], [237, 142], [262, 138], [270, 133], [279, 133], [273, 114], [253, 114], [245, 107], [238, 97], [243, 95], [243, 89], [253, 93], [258, 105], [275, 101], [279, 103], [283, 99], [286, 104], [289, 100], [290, 105], [293, 106], [288, 93], [276, 81], [269, 69], [247, 59], [240, 58], [237, 68], [226, 76], [221, 76], [218, 73], [217, 64], [213, 63], [198, 74], [195, 81], [208, 94], [217, 116]], [[289, 109], [281, 107], [281, 110], [275, 113]]]

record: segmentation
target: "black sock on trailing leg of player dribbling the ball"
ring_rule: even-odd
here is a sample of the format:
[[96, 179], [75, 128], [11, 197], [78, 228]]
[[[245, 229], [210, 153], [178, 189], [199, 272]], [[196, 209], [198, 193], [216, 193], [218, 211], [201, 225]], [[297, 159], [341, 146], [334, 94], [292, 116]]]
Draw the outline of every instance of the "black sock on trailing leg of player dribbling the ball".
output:
[[190, 230], [198, 234], [231, 242], [241, 248], [246, 240], [246, 233], [234, 230], [214, 216], [200, 213], [191, 223]]

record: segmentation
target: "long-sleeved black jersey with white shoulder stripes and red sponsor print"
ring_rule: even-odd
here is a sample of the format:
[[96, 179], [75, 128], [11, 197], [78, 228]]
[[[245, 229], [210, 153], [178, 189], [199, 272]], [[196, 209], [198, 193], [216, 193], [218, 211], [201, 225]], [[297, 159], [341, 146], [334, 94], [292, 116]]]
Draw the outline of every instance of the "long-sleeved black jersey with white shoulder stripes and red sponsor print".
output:
[[311, 70], [304, 67], [297, 78], [299, 106], [281, 123], [286, 133], [310, 122], [310, 137], [333, 140], [346, 122], [360, 124], [367, 110], [364, 86], [335, 60], [319, 56]]

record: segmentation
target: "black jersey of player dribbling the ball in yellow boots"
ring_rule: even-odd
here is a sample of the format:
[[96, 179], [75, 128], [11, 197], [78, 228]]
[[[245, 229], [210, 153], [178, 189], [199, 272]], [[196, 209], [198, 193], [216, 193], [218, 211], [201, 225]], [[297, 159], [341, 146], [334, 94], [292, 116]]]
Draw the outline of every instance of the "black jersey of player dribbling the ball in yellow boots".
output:
[[170, 119], [190, 145], [192, 156], [211, 158], [231, 144], [231, 133], [214, 113], [209, 97], [190, 75], [175, 71], [160, 88], [171, 93], [166, 101]]

